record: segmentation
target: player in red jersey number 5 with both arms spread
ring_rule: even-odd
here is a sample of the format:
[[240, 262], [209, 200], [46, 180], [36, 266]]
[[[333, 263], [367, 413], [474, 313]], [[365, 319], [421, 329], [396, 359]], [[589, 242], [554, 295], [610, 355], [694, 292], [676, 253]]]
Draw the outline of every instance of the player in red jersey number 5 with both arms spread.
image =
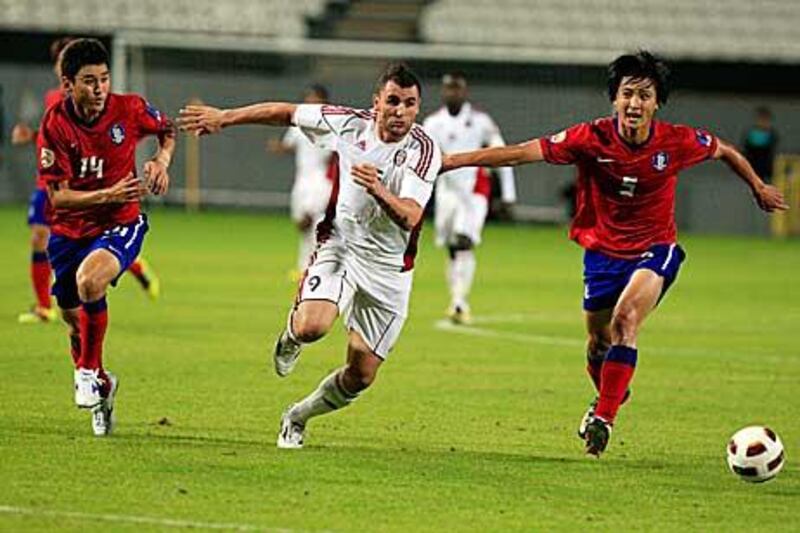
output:
[[514, 146], [446, 156], [442, 167], [538, 161], [578, 167], [570, 238], [585, 249], [587, 370], [598, 391], [579, 436], [586, 452], [596, 456], [606, 449], [629, 395], [639, 329], [685, 258], [675, 228], [678, 172], [721, 159], [750, 187], [761, 209], [787, 208], [781, 193], [765, 184], [733, 145], [703, 129], [654, 118], [669, 93], [662, 60], [641, 51], [618, 57], [608, 72], [613, 116]]

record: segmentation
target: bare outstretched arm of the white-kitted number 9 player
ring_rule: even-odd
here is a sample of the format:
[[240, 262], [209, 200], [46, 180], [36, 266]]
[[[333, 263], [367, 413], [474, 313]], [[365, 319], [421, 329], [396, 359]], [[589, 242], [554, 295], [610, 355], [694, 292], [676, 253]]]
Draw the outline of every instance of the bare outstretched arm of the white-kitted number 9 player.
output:
[[180, 110], [178, 126], [194, 135], [219, 133], [223, 128], [240, 124], [291, 126], [295, 104], [264, 102], [245, 107], [220, 109], [207, 105], [187, 105]]

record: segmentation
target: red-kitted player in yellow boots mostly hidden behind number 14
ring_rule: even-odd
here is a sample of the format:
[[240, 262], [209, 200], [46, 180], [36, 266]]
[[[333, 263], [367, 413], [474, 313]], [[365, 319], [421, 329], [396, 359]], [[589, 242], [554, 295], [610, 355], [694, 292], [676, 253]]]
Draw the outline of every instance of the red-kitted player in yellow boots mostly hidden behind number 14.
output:
[[[48, 90], [44, 95], [46, 111], [58, 104], [64, 98], [65, 88], [61, 83], [59, 56], [61, 51], [74, 40], [74, 37], [56, 39], [50, 45], [50, 57], [53, 60], [53, 70], [59, 81], [59, 86]], [[37, 131], [28, 124], [20, 122], [11, 131], [11, 144], [24, 146], [36, 142]], [[36, 304], [30, 311], [21, 313], [18, 321], [22, 324], [53, 322], [58, 319], [58, 312], [50, 299], [50, 283], [52, 272], [47, 259], [47, 242], [50, 239], [48, 218], [52, 208], [47, 199], [47, 184], [41, 177], [36, 179], [36, 189], [31, 195], [28, 204], [28, 226], [31, 228], [31, 282], [36, 296]], [[139, 285], [152, 299], [158, 298], [159, 279], [143, 257], [137, 258], [129, 268]]]

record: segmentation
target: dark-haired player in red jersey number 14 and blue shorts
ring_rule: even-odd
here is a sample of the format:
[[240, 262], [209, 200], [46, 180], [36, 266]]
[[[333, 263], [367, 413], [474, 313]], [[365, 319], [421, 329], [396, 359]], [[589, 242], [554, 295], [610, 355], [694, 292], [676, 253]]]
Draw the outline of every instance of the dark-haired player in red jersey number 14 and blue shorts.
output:
[[[109, 93], [108, 52], [77, 39], [61, 56], [68, 96], [49, 108], [37, 140], [39, 175], [53, 207], [47, 252], [53, 294], [70, 327], [75, 403], [92, 410], [95, 435], [113, 428], [117, 378], [103, 368], [106, 289], [141, 250], [148, 231], [139, 209], [148, 191], [163, 194], [175, 134], [166, 116], [138, 95]], [[159, 150], [136, 176], [136, 145], [156, 135]]]

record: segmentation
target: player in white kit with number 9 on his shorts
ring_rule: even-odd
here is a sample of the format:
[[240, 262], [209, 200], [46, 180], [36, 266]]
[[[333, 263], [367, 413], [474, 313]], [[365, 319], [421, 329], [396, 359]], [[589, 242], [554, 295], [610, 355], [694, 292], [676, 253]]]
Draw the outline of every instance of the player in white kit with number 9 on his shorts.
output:
[[181, 110], [181, 128], [195, 134], [238, 124], [295, 125], [339, 156], [339, 179], [317, 227], [319, 244], [274, 358], [278, 375], [288, 375], [302, 344], [323, 337], [342, 314], [347, 362], [286, 410], [281, 448], [302, 447], [310, 418], [353, 402], [400, 335], [423, 210], [441, 166], [439, 147], [414, 124], [420, 98], [419, 79], [395, 64], [378, 79], [370, 110], [272, 102]]

